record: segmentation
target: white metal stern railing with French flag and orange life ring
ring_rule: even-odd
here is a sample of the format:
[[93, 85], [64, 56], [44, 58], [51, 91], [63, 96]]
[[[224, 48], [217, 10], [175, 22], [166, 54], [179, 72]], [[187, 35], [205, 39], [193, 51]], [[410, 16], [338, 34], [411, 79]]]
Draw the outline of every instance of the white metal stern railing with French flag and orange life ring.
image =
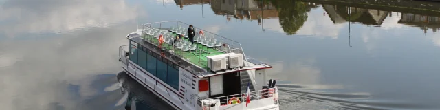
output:
[[[278, 99], [278, 87], [250, 92], [250, 101], [251, 102], [252, 102], [252, 100], [260, 100], [263, 98], [272, 98], [272, 97], [275, 100]], [[238, 98], [240, 100], [240, 103], [242, 103], [242, 102], [246, 102], [248, 95], [247, 95], [247, 93], [244, 93], [244, 94], [234, 94], [234, 95], [230, 95], [230, 96], [221, 96], [221, 97], [216, 97], [216, 98], [198, 99], [197, 104], [199, 104], [199, 106], [201, 106], [201, 107], [210, 106], [210, 105], [203, 105], [203, 102], [205, 100], [220, 99], [220, 105], [223, 106], [223, 105], [228, 105], [230, 101], [234, 100], [234, 98]], [[239, 104], [239, 103], [237, 101], [237, 103], [232, 102], [231, 104]]]

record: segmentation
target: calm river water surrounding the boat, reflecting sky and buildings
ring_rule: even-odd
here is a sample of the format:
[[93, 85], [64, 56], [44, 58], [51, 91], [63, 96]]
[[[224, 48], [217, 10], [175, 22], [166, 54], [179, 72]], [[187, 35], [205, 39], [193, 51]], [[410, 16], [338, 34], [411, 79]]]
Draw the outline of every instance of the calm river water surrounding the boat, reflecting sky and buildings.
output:
[[282, 109], [440, 109], [440, 3], [0, 0], [0, 109], [172, 109], [118, 62], [139, 23], [179, 20], [272, 65]]

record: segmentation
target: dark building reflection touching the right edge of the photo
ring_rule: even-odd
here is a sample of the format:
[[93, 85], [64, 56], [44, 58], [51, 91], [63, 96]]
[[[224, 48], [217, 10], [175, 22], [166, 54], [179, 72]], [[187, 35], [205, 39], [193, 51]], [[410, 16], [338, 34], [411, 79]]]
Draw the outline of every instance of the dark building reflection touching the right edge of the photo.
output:
[[416, 26], [424, 30], [432, 28], [433, 32], [440, 30], [440, 17], [423, 16], [420, 14], [402, 13], [398, 23], [410, 26]]

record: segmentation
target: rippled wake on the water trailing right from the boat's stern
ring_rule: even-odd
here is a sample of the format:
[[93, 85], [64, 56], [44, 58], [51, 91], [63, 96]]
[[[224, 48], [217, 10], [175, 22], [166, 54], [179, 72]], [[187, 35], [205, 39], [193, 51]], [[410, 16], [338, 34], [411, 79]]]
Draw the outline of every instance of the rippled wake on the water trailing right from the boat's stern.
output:
[[372, 99], [369, 93], [314, 91], [307, 85], [278, 87], [282, 109], [431, 109], [411, 102]]

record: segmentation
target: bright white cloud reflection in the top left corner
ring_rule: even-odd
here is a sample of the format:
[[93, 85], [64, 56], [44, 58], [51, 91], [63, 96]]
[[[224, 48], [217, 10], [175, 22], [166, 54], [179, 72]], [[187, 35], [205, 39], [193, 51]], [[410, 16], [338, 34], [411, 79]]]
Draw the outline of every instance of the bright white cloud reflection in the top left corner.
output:
[[108, 27], [135, 19], [135, 8], [124, 0], [14, 0], [6, 1], [0, 10], [0, 26], [9, 37], [23, 32], [70, 32], [80, 28]]

